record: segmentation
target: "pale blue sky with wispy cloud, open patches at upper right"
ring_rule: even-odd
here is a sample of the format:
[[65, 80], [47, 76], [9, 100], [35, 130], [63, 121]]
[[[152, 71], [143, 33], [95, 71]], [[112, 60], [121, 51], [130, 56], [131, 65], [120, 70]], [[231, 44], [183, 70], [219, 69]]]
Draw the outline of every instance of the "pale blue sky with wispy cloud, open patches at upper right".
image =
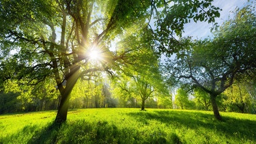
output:
[[[222, 9], [220, 18], [216, 18], [216, 23], [221, 25], [225, 20], [233, 15], [231, 11], [238, 8], [243, 8], [248, 0], [214, 0], [212, 5], [215, 5]], [[211, 36], [210, 28], [212, 24], [208, 24], [207, 22], [191, 22], [185, 25], [185, 33], [182, 36], [193, 36], [193, 39], [204, 39], [208, 36]]]

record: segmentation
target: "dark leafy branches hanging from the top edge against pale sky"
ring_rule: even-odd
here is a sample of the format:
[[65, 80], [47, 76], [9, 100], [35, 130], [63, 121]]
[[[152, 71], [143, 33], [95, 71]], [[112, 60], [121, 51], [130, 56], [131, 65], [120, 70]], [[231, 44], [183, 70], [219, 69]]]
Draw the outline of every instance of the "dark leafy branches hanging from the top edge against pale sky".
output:
[[184, 25], [191, 20], [208, 21], [212, 25], [215, 18], [220, 17], [220, 8], [212, 5], [213, 0], [193, 1], [152, 1], [152, 13], [156, 17], [156, 46], [159, 53], [165, 53], [171, 57], [173, 53], [179, 53], [186, 47], [186, 42], [181, 42]]

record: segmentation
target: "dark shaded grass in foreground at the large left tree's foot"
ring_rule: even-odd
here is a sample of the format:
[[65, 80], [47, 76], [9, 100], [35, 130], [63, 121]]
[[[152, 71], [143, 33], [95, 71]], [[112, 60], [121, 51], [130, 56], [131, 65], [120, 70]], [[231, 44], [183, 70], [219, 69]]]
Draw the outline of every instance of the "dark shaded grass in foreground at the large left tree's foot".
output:
[[[1, 142], [3, 140], [3, 142]], [[181, 143], [175, 132], [167, 139], [160, 130], [147, 132], [122, 127], [108, 121], [68, 121], [61, 126], [48, 124], [44, 128], [27, 125], [22, 130], [0, 139], [0, 143]]]

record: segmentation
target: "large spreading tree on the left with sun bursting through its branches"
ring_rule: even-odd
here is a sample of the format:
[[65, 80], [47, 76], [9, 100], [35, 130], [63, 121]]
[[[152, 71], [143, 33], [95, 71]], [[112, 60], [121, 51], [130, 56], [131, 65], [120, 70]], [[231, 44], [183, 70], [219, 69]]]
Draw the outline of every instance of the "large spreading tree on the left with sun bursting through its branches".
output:
[[[89, 72], [109, 70], [109, 63], [120, 58], [109, 51], [109, 40], [138, 20], [144, 23], [149, 5], [149, 1], [1, 1], [0, 40], [6, 56], [1, 59], [14, 61], [1, 66], [17, 70], [9, 69], [2, 80], [27, 78], [36, 84], [48, 76], [55, 78], [61, 94], [55, 122], [66, 121], [76, 81]], [[96, 47], [102, 60], [91, 67], [89, 51]]]

